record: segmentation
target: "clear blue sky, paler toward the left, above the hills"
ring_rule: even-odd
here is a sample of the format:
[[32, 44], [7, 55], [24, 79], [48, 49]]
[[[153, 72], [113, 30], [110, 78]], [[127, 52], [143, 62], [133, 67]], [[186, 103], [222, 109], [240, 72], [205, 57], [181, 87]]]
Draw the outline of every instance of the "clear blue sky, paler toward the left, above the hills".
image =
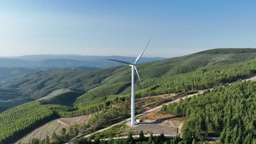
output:
[[256, 47], [255, 1], [0, 0], [0, 56], [174, 57]]

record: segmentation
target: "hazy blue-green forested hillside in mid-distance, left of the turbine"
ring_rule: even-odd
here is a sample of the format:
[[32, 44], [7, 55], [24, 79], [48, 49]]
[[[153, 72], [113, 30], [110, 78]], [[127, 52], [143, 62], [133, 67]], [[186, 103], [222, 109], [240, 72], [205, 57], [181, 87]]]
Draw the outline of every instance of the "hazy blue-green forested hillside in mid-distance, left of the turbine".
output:
[[2, 87], [19, 88], [22, 95], [38, 99], [59, 88], [88, 91], [117, 68], [95, 71], [48, 70], [4, 80]]

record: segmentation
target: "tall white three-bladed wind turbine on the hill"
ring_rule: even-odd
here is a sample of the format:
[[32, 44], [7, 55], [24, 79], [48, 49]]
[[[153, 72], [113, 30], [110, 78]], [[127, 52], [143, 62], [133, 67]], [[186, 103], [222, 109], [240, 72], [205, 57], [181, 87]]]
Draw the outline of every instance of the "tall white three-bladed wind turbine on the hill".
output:
[[[139, 61], [139, 59], [141, 58], [141, 56], [143, 55], [144, 51], [147, 49], [148, 44], [150, 43], [150, 40], [148, 41], [146, 47], [142, 50], [141, 54], [139, 54], [139, 56], [136, 58], [136, 61], [134, 63], [119, 61], [119, 60], [115, 60], [115, 59], [108, 59], [109, 61], [115, 61], [115, 62], [120, 62], [120, 63], [130, 65], [132, 68], [132, 73], [131, 73], [131, 125], [135, 125], [134, 69], [136, 70], [136, 73], [138, 75], [139, 82], [141, 82], [141, 78], [139, 78], [138, 69], [137, 69], [136, 65], [137, 65], [137, 62]], [[142, 83], [141, 83], [141, 86], [143, 87]]]

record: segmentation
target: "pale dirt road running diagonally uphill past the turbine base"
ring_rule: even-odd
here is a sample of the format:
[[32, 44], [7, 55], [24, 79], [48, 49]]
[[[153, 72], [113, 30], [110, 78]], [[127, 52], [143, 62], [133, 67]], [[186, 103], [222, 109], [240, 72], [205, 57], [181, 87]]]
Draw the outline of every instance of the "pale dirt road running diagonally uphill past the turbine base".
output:
[[[248, 79], [245, 79], [245, 80], [252, 80], [252, 81], [255, 81], [255, 80], [256, 80], [256, 76], [249, 77]], [[243, 81], [244, 81], [244, 80], [243, 80]], [[231, 85], [231, 84], [232, 84], [232, 83], [230, 83], [230, 85]], [[212, 88], [210, 89], [210, 91], [212, 91]], [[184, 96], [184, 97], [182, 97], [182, 98], [178, 98], [178, 99], [176, 99], [176, 100], [174, 100], [174, 101], [170, 101], [170, 102], [165, 103], [165, 104], [166, 104], [166, 105], [169, 105], [169, 104], [178, 103], [178, 102], [181, 101], [181, 100], [184, 100], [184, 99], [187, 99], [187, 98], [191, 98], [191, 97], [194, 97], [194, 96], [199, 95], [199, 94], [202, 94], [202, 93], [203, 93], [203, 91], [201, 91], [201, 92], [199, 92], [199, 93], [196, 93], [196, 94], [189, 94], [189, 95], [186, 95], [186, 96]], [[148, 110], [148, 111], [142, 112], [142, 113], [140, 113], [139, 115], [136, 115], [135, 117], [139, 117], [139, 116], [145, 115], [145, 114], [147, 114], [147, 113], [149, 113], [149, 112], [152, 112], [152, 111], [161, 109], [161, 107], [162, 107], [162, 105], [160, 105], [160, 106], [158, 106], [158, 107], [155, 107], [155, 108], [153, 108], [153, 109], [150, 109], [150, 110]], [[121, 123], [126, 123], [126, 122], [129, 122], [129, 121], [131, 121], [131, 118], [127, 118], [127, 119], [125, 119], [124, 121], [121, 121], [121, 122], [119, 122], [119, 123], [110, 125], [110, 126], [107, 127], [107, 128], [104, 128], [104, 129], [95, 131], [94, 133], [91, 133], [91, 134], [89, 134], [89, 135], [85, 135], [85, 136], [83, 136], [83, 137], [89, 137], [89, 136], [91, 136], [91, 135], [100, 133], [100, 132], [102, 132], [102, 131], [104, 131], [104, 130], [110, 129], [110, 128], [114, 127], [115, 125], [118, 125], [118, 124], [121, 124]], [[218, 137], [205, 137], [205, 139], [206, 139], [206, 140], [217, 140], [217, 139], [219, 139], [219, 138], [218, 138]], [[71, 143], [73, 140], [75, 140], [75, 137], [74, 137], [73, 139], [69, 140], [67, 143]], [[65, 144], [67, 144], [67, 143], [65, 143]]]

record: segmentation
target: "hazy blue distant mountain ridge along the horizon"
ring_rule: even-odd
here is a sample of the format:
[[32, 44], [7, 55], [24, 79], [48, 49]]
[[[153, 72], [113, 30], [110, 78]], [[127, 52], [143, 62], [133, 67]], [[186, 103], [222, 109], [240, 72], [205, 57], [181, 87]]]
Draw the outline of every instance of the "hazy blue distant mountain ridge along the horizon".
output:
[[[82, 56], [82, 55], [28, 55], [20, 57], [0, 57], [0, 67], [22, 67], [22, 68], [69, 68], [69, 67], [91, 67], [107, 68], [121, 65], [107, 59], [120, 59], [121, 61], [133, 62], [136, 57], [124, 56]], [[143, 57], [140, 63], [161, 61], [162, 57]]]

